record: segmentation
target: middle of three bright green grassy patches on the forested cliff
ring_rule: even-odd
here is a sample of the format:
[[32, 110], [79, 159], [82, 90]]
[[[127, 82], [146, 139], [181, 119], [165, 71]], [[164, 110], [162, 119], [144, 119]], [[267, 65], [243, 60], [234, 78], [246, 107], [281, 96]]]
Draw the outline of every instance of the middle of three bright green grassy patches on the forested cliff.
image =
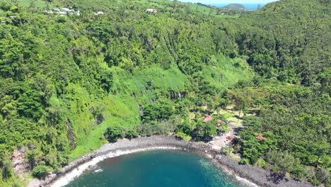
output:
[[151, 98], [161, 91], [184, 91], [190, 81], [180, 70], [172, 67], [164, 70], [161, 67], [139, 69], [129, 74], [118, 67], [113, 67], [113, 90], [125, 94], [135, 94], [139, 103], [149, 103]]

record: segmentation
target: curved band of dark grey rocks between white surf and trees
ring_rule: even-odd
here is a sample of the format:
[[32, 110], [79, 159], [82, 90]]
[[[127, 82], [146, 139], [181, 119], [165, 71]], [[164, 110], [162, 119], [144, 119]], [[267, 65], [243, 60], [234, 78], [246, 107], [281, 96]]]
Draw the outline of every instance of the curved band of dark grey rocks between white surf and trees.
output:
[[225, 155], [217, 154], [214, 150], [209, 147], [208, 144], [204, 142], [185, 142], [183, 140], [178, 140], [174, 136], [151, 136], [151, 137], [137, 137], [132, 140], [120, 140], [115, 143], [109, 143], [103, 145], [97, 151], [86, 154], [85, 156], [77, 159], [74, 162], [65, 166], [57, 174], [52, 174], [47, 176], [44, 181], [32, 181], [29, 186], [50, 186], [55, 180], [59, 179], [61, 176], [66, 175], [69, 171], [76, 169], [77, 166], [90, 161], [94, 157], [103, 156], [110, 152], [117, 151], [130, 151], [134, 149], [144, 149], [152, 147], [177, 147], [190, 152], [195, 152], [204, 156], [209, 156], [209, 158], [214, 157], [214, 162], [223, 166], [234, 174], [252, 181], [252, 183], [257, 183], [259, 186], [302, 186], [310, 187], [310, 183], [294, 181], [293, 179], [285, 178], [281, 180], [275, 180], [275, 176], [272, 176], [269, 171], [264, 169], [255, 168], [250, 165], [239, 165], [236, 160]]

